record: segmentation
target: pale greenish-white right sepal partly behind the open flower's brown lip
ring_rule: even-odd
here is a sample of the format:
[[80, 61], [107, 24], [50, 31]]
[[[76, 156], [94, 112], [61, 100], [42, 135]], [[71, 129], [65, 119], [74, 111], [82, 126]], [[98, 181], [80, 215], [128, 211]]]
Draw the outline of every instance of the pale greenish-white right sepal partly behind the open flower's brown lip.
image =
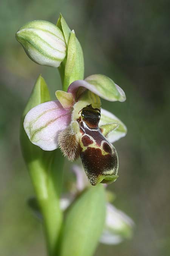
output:
[[115, 115], [113, 115], [112, 113], [102, 108], [99, 127], [105, 124], [112, 124], [112, 123], [118, 123], [119, 126], [116, 130], [111, 131], [106, 136], [108, 141], [110, 141], [111, 143], [124, 137], [127, 133], [127, 127], [124, 125], [124, 123], [122, 123], [122, 121], [119, 118], [117, 118]]

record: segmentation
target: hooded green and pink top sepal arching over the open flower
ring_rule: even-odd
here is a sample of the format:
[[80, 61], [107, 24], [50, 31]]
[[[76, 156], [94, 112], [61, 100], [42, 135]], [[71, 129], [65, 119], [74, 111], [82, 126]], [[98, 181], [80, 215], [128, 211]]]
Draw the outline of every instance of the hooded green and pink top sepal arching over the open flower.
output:
[[79, 87], [84, 87], [107, 101], [125, 101], [124, 91], [105, 75], [90, 75], [85, 80], [77, 80], [68, 87], [68, 92], [77, 96]]

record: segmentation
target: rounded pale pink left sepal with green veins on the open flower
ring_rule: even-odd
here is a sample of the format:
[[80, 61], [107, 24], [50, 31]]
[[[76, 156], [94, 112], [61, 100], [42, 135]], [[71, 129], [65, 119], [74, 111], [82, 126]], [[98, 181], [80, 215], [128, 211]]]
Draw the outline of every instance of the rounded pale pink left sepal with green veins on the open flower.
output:
[[30, 141], [51, 151], [58, 147], [57, 138], [71, 121], [71, 110], [65, 110], [59, 101], [49, 101], [32, 108], [24, 120], [24, 129]]

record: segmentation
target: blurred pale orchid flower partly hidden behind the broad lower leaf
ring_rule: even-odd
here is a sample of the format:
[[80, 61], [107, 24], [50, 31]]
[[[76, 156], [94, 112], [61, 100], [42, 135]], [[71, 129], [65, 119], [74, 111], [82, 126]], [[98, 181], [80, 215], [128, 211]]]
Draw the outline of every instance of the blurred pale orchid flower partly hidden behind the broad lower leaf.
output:
[[[76, 184], [70, 194], [60, 199], [62, 210], [66, 210], [76, 196], [90, 185], [80, 166], [73, 165], [72, 170], [76, 174]], [[131, 238], [133, 226], [134, 222], [130, 217], [107, 201], [105, 225], [100, 242], [110, 245], [121, 243], [124, 239]]]

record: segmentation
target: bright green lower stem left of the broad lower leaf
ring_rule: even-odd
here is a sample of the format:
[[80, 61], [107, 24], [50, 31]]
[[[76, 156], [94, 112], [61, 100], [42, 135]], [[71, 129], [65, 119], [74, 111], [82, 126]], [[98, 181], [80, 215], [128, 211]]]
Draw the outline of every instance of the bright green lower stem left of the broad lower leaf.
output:
[[[59, 205], [59, 194], [56, 192], [53, 171], [47, 170], [40, 159], [31, 162], [28, 168], [43, 216], [48, 253], [49, 256], [56, 256], [62, 212]], [[48, 168], [51, 169], [50, 166]], [[61, 170], [58, 171], [60, 172]]]

